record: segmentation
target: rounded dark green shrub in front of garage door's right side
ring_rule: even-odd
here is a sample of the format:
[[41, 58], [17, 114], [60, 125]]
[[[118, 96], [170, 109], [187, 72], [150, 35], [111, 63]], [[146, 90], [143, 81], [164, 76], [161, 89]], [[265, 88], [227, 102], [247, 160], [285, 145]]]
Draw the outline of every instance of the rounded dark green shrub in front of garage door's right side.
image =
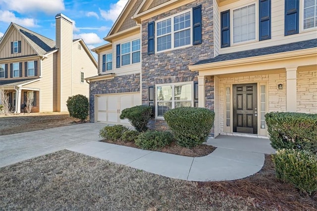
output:
[[148, 130], [147, 125], [151, 115], [151, 106], [134, 106], [123, 109], [120, 114], [120, 119], [127, 118], [137, 131], [144, 132]]

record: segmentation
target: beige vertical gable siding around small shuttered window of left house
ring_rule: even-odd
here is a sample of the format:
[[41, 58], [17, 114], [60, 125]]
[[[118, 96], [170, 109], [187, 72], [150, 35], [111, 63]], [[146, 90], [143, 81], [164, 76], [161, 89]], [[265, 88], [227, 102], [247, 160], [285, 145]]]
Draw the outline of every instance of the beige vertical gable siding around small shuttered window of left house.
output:
[[[11, 54], [11, 42], [14, 41], [21, 41], [21, 53]], [[0, 59], [36, 54], [31, 46], [24, 40], [21, 33], [19, 33], [19, 31], [14, 27], [11, 27], [11, 29], [7, 32], [1, 46], [3, 46], [3, 48], [1, 47], [0, 49]]]

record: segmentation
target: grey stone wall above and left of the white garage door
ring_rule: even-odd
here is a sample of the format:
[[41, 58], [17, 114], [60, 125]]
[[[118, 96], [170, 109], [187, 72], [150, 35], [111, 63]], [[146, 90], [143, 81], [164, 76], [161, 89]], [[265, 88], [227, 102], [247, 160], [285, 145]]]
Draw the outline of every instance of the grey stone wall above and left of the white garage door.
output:
[[90, 121], [95, 122], [95, 95], [140, 92], [140, 73], [118, 76], [113, 79], [92, 81], [89, 84]]

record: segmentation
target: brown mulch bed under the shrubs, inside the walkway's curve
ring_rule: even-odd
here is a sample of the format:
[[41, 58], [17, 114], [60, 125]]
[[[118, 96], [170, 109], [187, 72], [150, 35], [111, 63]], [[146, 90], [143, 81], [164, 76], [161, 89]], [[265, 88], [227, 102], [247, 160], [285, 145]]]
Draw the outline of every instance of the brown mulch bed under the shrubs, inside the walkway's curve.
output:
[[[140, 149], [135, 145], [134, 142], [123, 142], [123, 141], [111, 141], [111, 140], [102, 140], [101, 142], [106, 142], [110, 144], [117, 144], [127, 147], [134, 147]], [[188, 149], [186, 147], [180, 147], [175, 142], [172, 142], [170, 145], [163, 147], [160, 150], [156, 150], [162, 153], [169, 153], [179, 156], [187, 156], [187, 157], [203, 157], [211, 154], [216, 148], [210, 145], [201, 144], [197, 147], [193, 147], [192, 149]]]

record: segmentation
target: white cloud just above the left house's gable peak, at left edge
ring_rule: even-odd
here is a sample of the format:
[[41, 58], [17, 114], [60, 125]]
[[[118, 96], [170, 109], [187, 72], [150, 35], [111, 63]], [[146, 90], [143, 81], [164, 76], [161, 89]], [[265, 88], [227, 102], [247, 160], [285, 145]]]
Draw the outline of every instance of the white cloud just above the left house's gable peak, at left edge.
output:
[[33, 18], [19, 18], [16, 17], [13, 12], [10, 12], [8, 10], [0, 10], [0, 20], [4, 23], [13, 22], [24, 27], [38, 27], [38, 25], [36, 24], [36, 20], [34, 20]]

